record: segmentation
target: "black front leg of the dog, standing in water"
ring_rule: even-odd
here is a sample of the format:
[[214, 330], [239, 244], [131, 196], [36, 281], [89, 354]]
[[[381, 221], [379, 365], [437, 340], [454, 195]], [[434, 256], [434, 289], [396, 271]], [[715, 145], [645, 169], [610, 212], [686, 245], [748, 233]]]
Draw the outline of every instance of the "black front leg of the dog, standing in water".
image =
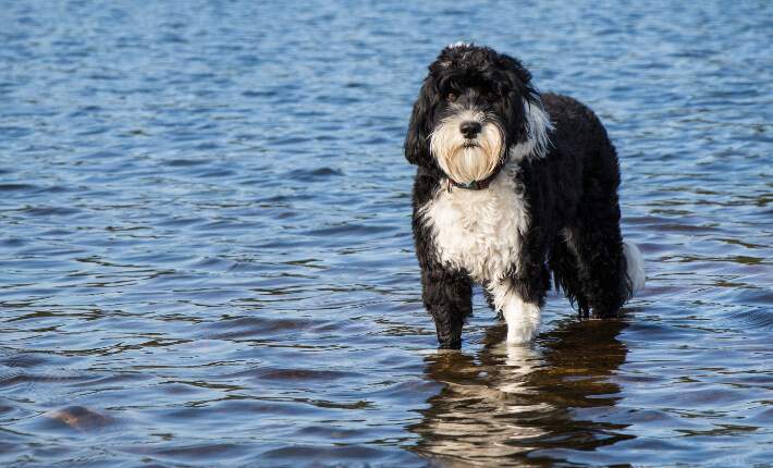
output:
[[473, 285], [463, 272], [424, 272], [424, 303], [434, 319], [441, 348], [462, 347], [462, 327], [473, 313]]

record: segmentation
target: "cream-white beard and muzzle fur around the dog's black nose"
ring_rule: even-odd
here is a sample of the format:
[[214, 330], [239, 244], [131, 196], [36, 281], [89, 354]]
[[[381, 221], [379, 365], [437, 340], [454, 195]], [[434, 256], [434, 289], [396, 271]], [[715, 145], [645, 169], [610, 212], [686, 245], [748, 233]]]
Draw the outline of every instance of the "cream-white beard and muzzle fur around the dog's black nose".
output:
[[[480, 133], [467, 139], [459, 132], [465, 121], [479, 122]], [[482, 112], [463, 111], [443, 119], [430, 137], [430, 150], [440, 169], [456, 182], [468, 184], [491, 175], [502, 158], [504, 137], [496, 121]]]

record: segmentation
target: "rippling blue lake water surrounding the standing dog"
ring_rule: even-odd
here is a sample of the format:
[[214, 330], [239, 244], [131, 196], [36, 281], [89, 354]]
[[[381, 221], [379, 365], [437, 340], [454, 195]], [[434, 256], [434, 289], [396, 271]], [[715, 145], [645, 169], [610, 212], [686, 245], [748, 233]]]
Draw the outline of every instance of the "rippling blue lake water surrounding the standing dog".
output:
[[[0, 465], [766, 465], [772, 3], [0, 12]], [[598, 111], [648, 288], [531, 349], [420, 305], [402, 140], [473, 39]]]

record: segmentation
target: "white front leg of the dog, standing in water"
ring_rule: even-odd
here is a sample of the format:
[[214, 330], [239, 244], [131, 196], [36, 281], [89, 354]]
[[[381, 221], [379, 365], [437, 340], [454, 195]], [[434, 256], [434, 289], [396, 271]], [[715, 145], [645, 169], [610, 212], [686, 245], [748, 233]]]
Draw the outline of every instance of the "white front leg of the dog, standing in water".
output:
[[520, 344], [533, 340], [541, 318], [539, 301], [525, 300], [508, 279], [492, 282], [488, 291], [494, 307], [507, 322], [507, 343]]

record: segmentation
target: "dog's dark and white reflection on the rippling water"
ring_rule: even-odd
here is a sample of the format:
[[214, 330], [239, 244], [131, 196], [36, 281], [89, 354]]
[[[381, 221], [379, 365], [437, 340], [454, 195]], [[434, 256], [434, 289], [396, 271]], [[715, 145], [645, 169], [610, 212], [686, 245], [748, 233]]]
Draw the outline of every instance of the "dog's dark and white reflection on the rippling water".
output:
[[421, 436], [416, 451], [446, 463], [523, 465], [539, 463], [544, 454], [526, 458], [538, 449], [591, 449], [629, 439], [617, 432], [621, 426], [582, 414], [603, 412], [619, 399], [609, 375], [625, 361], [617, 340], [625, 327], [573, 319], [533, 348], [506, 345], [505, 329], [498, 327], [477, 355], [428, 356], [428, 377], [445, 386], [412, 428]]

